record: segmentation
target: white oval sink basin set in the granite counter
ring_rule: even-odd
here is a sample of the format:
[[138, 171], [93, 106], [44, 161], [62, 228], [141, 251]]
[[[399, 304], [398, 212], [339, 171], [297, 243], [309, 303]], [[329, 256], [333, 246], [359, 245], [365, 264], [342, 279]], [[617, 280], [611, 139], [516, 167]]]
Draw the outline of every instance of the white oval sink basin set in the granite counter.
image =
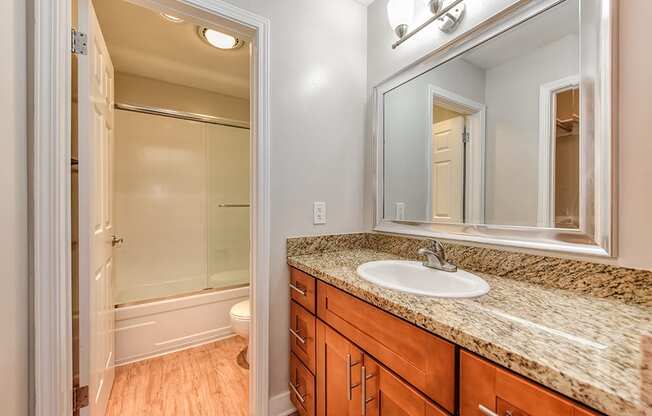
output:
[[473, 298], [489, 292], [479, 276], [458, 269], [445, 272], [425, 267], [418, 261], [380, 260], [358, 266], [364, 280], [389, 289], [439, 298]]

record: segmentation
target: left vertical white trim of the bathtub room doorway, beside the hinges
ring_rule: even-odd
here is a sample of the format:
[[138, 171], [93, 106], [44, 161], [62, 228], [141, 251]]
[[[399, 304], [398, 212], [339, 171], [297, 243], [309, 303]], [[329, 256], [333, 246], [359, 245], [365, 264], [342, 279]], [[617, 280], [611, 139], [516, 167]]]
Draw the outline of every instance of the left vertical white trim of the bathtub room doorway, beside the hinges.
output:
[[72, 409], [70, 1], [35, 0], [30, 245], [34, 414]]

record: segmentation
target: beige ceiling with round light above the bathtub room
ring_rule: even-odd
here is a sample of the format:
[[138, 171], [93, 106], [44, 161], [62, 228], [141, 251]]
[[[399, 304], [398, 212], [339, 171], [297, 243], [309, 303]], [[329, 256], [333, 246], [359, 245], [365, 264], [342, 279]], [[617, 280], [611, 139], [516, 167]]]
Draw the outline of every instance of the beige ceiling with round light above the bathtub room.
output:
[[116, 71], [249, 98], [248, 44], [219, 50], [187, 20], [172, 23], [123, 0], [93, 3]]

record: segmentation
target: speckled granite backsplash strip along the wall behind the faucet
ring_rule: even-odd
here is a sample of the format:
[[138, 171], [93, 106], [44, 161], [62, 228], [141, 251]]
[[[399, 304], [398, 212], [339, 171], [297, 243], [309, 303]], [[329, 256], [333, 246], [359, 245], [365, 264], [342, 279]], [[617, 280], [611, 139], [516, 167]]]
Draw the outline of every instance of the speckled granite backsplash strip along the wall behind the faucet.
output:
[[[288, 256], [369, 249], [417, 259], [427, 239], [380, 233], [288, 238]], [[445, 243], [446, 257], [462, 269], [596, 298], [652, 306], [652, 271]]]

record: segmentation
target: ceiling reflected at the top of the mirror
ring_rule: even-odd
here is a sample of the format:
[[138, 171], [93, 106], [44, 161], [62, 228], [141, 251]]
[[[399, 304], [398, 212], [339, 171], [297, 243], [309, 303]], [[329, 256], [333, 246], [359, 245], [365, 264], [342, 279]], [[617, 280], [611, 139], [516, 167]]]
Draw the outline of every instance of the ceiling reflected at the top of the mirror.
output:
[[567, 0], [462, 55], [482, 69], [494, 68], [518, 56], [579, 33], [579, 0]]

